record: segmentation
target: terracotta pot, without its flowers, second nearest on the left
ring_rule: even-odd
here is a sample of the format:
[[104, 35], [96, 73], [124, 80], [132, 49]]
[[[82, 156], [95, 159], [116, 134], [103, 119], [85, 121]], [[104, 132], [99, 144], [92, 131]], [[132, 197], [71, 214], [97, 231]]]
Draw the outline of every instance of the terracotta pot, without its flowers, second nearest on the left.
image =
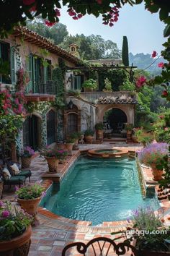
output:
[[33, 216], [34, 221], [32, 222], [32, 226], [37, 226], [40, 224], [40, 221], [37, 218], [37, 206], [38, 206], [40, 200], [41, 200], [41, 197], [37, 197], [35, 199], [17, 198], [17, 202], [19, 203], [21, 208]]

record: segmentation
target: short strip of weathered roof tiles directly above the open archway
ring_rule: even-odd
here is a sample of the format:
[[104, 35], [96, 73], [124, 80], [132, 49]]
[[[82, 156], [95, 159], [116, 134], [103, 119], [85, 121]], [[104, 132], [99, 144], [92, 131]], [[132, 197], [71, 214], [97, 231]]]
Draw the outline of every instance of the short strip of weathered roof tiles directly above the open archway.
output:
[[136, 98], [131, 97], [114, 97], [114, 96], [107, 96], [107, 97], [100, 97], [97, 101], [97, 104], [138, 104]]

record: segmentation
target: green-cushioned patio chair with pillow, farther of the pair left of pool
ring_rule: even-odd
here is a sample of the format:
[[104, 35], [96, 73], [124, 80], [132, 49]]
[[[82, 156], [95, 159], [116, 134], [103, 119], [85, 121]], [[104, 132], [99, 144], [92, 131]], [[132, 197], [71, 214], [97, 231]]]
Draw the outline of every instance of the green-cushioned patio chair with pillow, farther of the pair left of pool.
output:
[[[16, 164], [18, 169], [19, 169], [19, 172], [16, 172], [14, 171], [14, 168], [12, 168], [12, 166]], [[32, 172], [30, 171], [30, 169], [27, 169], [27, 168], [22, 168], [20, 169], [20, 165], [19, 163], [17, 162], [13, 162], [13, 161], [7, 161], [6, 162], [6, 165], [10, 171], [10, 174], [12, 176], [24, 176], [26, 179], [29, 178], [29, 182], [31, 182], [31, 176], [32, 176]]]

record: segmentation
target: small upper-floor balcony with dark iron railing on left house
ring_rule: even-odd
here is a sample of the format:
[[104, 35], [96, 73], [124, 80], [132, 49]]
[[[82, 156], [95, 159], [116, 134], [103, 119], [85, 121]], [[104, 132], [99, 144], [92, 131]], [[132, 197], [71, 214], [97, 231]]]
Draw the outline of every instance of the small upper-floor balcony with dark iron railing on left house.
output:
[[46, 83], [37, 82], [35, 86], [28, 86], [25, 96], [27, 101], [55, 101], [57, 93], [57, 83], [47, 81]]

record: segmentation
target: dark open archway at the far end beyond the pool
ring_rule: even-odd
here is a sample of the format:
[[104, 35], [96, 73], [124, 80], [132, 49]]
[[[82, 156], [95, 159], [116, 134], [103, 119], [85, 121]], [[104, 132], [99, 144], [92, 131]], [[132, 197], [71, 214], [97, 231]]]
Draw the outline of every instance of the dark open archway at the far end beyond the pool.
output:
[[127, 116], [120, 108], [112, 108], [104, 114], [104, 122], [112, 129], [112, 137], [117, 137], [128, 122]]

